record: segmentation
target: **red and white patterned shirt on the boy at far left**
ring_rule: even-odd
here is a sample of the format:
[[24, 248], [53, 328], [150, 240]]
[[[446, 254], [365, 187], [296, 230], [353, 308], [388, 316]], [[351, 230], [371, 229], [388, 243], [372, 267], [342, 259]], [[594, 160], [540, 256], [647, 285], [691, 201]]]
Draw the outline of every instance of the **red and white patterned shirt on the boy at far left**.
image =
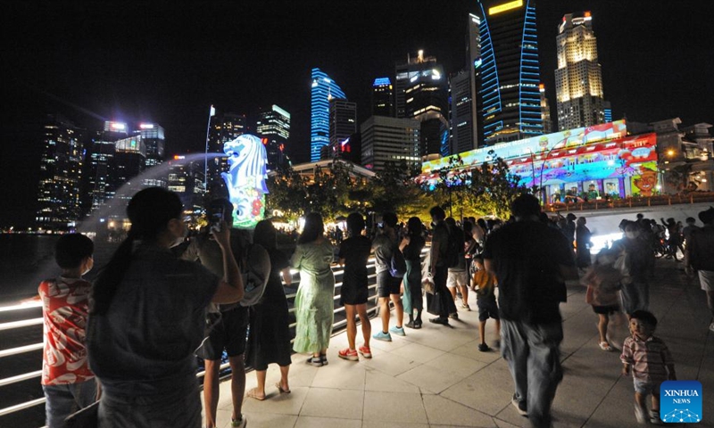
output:
[[60, 277], [39, 284], [45, 318], [42, 384], [63, 385], [93, 379], [85, 337], [89, 290], [83, 279]]

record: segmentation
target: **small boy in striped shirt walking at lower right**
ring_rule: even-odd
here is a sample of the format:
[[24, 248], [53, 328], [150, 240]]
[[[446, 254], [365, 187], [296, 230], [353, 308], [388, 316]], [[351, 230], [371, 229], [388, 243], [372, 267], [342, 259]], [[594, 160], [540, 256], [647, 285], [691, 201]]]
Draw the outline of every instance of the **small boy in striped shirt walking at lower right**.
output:
[[630, 316], [631, 336], [622, 345], [622, 374], [632, 372], [635, 383], [635, 418], [645, 424], [647, 405], [645, 399], [652, 394], [650, 422], [661, 424], [660, 383], [677, 380], [675, 363], [665, 342], [652, 334], [657, 326], [657, 318], [646, 310], [635, 310]]

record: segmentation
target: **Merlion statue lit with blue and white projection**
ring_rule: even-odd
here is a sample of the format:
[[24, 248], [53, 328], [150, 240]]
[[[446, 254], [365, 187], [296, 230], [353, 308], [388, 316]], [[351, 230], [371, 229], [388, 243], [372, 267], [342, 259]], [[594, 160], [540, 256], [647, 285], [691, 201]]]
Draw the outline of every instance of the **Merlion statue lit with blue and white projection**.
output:
[[254, 228], [265, 217], [265, 193], [268, 187], [268, 155], [257, 136], [244, 134], [223, 144], [228, 155], [228, 172], [220, 173], [233, 204], [233, 226]]

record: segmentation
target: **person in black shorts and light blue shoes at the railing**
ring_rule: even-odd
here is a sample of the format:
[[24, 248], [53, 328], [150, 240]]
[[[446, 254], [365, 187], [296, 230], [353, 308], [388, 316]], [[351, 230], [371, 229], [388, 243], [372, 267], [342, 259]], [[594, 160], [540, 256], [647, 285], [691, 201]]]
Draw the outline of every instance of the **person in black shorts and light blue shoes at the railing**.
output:
[[[378, 341], [392, 342], [394, 333], [398, 336], [404, 336], [404, 327], [402, 322], [404, 319], [404, 309], [402, 299], [400, 299], [400, 288], [402, 278], [394, 277], [389, 273], [389, 265], [392, 260], [394, 251], [399, 251], [397, 247], [397, 235], [395, 226], [397, 223], [396, 214], [394, 212], [386, 212], [382, 214], [382, 233], [374, 238], [372, 249], [374, 250], [375, 264], [377, 265], [377, 295], [379, 298], [379, 315], [382, 318], [382, 330], [375, 334], [374, 337]], [[389, 328], [389, 299], [394, 302], [394, 312], [396, 315], [396, 325]]]

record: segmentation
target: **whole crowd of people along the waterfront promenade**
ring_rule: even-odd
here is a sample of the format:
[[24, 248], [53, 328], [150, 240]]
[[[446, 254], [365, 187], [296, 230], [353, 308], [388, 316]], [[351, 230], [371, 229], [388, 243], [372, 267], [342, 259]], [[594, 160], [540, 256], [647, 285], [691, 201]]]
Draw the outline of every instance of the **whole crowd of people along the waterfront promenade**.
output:
[[[585, 299], [599, 317], [602, 350], [616, 346], [608, 335], [610, 316], [622, 312], [629, 318], [631, 335], [621, 346], [622, 371], [634, 377], [637, 421], [644, 422], [644, 400], [652, 395], [649, 417], [658, 422], [659, 383], [676, 375], [667, 346], [654, 340], [657, 321], [648, 312], [653, 242], [648, 234], [656, 234], [653, 227], [648, 231], [648, 220], [623, 222], [624, 237], [591, 263], [585, 218], [548, 218], [530, 194], [513, 202], [507, 222], [457, 222], [436, 206], [429, 211], [430, 227], [416, 217], [400, 223], [386, 212], [368, 232], [365, 218], [353, 213], [346, 218], [346, 238], [337, 251], [320, 214], [311, 213], [295, 252], [287, 257], [278, 250], [270, 221], [260, 222], [252, 238], [230, 228], [228, 205], [221, 210], [220, 222], [187, 241], [175, 193], [160, 188], [137, 193], [127, 210], [129, 235], [95, 284], [82, 279], [93, 266], [91, 241], [83, 235], [62, 236], [56, 247], [62, 276], [39, 289], [46, 323], [42, 383], [48, 426], [63, 426], [65, 417], [90, 405], [101, 427], [201, 426], [195, 356], [203, 358], [205, 366], [203, 423], [216, 426], [224, 351], [232, 371], [231, 426], [245, 426], [244, 399], [270, 396], [270, 364], [279, 366], [275, 389], [280, 394], [290, 393], [293, 351], [307, 354], [311, 366], [328, 365], [335, 254], [344, 267], [339, 299], [345, 307], [348, 342], [338, 350], [339, 358], [372, 358], [371, 340], [392, 342], [393, 335], [422, 328], [425, 309], [435, 316], [430, 323], [450, 325], [460, 310], [471, 310], [469, 292], [474, 292], [477, 350], [492, 350], [486, 342], [486, 322], [493, 318], [498, 337], [490, 343], [509, 366], [511, 402], [537, 427], [551, 425], [550, 407], [562, 379], [559, 306], [566, 301], [566, 281], [582, 276]], [[674, 228], [668, 239], [684, 250], [687, 271], [698, 271], [714, 317], [714, 209], [703, 211], [700, 219], [702, 228], [687, 219], [690, 228], [681, 232], [684, 246], [672, 238]], [[666, 224], [677, 227], [674, 221]], [[375, 333], [367, 316], [370, 255], [375, 258], [380, 319]], [[293, 343], [283, 288], [283, 283], [291, 284], [290, 268], [300, 272]], [[714, 322], [710, 329], [714, 331]], [[657, 358], [643, 362], [636, 358], [638, 352]], [[253, 366], [257, 378], [250, 391], [245, 391], [246, 364]]]

